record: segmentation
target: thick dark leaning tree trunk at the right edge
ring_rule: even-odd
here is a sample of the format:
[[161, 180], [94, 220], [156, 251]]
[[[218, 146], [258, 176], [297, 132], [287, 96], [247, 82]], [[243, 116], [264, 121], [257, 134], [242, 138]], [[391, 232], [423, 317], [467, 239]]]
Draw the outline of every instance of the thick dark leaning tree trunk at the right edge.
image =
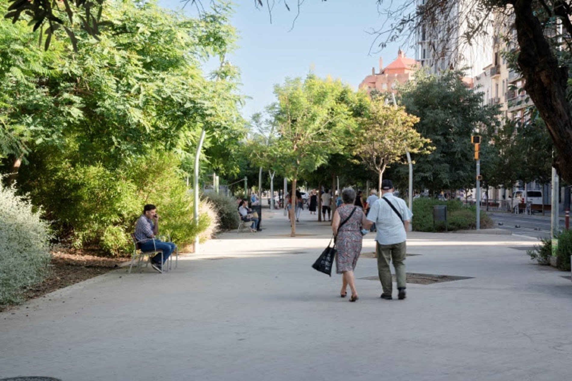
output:
[[518, 65], [525, 79], [525, 90], [546, 122], [554, 142], [557, 151], [554, 167], [561, 178], [572, 183], [572, 116], [566, 100], [568, 68], [559, 67], [550, 51], [542, 25], [533, 13], [533, 2], [513, 0], [509, 3], [514, 6], [520, 46]]

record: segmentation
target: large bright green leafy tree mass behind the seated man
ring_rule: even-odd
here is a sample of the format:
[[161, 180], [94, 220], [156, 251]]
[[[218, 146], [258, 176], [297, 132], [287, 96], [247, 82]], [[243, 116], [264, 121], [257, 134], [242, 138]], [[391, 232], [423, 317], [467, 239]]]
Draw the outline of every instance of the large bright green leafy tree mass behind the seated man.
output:
[[[224, 59], [235, 40], [230, 11], [219, 7], [193, 19], [153, 3], [118, 2], [105, 10], [112, 25], [99, 42], [77, 33], [83, 39], [77, 52], [58, 41], [43, 52], [31, 41], [33, 33], [0, 21], [18, 32], [0, 37], [6, 63], [0, 75], [7, 79], [0, 84], [7, 89], [0, 95], [2, 133], [18, 142], [3, 150], [3, 171], [22, 157], [18, 187], [46, 206], [61, 237], [78, 244], [120, 237], [150, 187], [160, 191], [153, 197], [162, 208], [187, 213], [181, 170], [189, 172], [185, 166], [202, 129], [205, 165], [236, 173], [233, 157], [245, 129], [238, 72]], [[29, 57], [29, 70], [22, 70], [22, 55]], [[209, 78], [201, 65], [210, 57], [219, 57], [220, 66]], [[149, 158], [168, 165], [156, 169]], [[132, 175], [138, 171], [156, 173], [161, 183]], [[181, 220], [188, 222], [187, 216]], [[176, 230], [183, 241], [198, 227]]]

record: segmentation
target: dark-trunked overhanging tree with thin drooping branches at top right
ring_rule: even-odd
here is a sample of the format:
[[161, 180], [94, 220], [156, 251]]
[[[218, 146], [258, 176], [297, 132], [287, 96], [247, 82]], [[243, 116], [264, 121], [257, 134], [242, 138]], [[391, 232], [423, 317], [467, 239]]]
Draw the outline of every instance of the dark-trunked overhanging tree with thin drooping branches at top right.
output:
[[[458, 1], [427, 0], [418, 6], [416, 0], [407, 0], [399, 9], [390, 1], [377, 2], [388, 4], [382, 7], [382, 14], [393, 21], [387, 24], [391, 27], [379, 31], [381, 46], [411, 38], [424, 27], [439, 35], [459, 35], [456, 44], [435, 46], [439, 57], [451, 58], [464, 46], [473, 45], [478, 37], [499, 37], [499, 26], [516, 31], [515, 61], [525, 80], [524, 89], [554, 143], [554, 166], [563, 179], [572, 182], [572, 113], [568, 99], [572, 1], [478, 0], [463, 6]], [[459, 30], [463, 33], [458, 34]], [[511, 39], [511, 33], [507, 34]]]

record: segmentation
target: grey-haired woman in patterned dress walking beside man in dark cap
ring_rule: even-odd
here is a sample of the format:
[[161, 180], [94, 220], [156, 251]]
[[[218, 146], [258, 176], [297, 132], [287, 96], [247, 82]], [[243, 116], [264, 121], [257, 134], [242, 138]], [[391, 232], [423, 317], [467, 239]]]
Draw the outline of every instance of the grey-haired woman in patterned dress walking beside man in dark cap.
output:
[[347, 287], [352, 291], [350, 302], [358, 300], [353, 270], [356, 268], [360, 252], [362, 252], [362, 228], [369, 228], [371, 222], [366, 219], [362, 208], [354, 206], [356, 192], [344, 189], [341, 192], [343, 204], [333, 214], [332, 230], [336, 236], [336, 271], [343, 274], [340, 296], [345, 298]]

